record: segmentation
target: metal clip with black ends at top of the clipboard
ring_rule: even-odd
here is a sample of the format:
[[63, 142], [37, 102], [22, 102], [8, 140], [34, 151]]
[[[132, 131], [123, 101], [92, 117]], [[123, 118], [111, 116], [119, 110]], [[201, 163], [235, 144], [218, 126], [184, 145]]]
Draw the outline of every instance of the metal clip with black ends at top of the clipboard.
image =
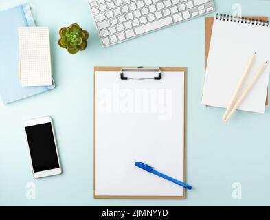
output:
[[[124, 72], [157, 72], [158, 76], [153, 78], [128, 78]], [[161, 80], [161, 69], [159, 67], [123, 67], [120, 72], [121, 80]]]

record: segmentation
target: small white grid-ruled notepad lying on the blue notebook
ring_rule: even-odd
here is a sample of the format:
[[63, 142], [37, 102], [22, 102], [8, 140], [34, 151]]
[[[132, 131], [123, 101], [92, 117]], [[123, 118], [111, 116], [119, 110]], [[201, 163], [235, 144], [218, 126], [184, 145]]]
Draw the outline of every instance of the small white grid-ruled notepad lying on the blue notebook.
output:
[[19, 53], [23, 87], [52, 85], [48, 27], [19, 28]]

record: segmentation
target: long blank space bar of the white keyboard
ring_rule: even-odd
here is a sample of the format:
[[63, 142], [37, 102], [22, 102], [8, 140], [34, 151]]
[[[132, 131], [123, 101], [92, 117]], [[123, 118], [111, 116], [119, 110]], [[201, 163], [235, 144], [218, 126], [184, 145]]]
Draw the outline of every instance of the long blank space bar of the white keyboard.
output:
[[151, 23], [146, 23], [140, 27], [135, 28], [136, 34], [144, 34], [145, 32], [153, 31], [157, 28], [162, 28], [166, 25], [172, 24], [172, 17], [166, 17], [164, 19], [160, 19], [158, 21], [153, 21]]

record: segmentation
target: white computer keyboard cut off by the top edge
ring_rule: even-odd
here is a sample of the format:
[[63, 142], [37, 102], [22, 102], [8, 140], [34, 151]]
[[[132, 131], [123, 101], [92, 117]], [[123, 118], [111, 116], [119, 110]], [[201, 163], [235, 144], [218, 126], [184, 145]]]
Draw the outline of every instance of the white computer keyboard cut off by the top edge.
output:
[[213, 0], [91, 0], [89, 5], [104, 47], [215, 10]]

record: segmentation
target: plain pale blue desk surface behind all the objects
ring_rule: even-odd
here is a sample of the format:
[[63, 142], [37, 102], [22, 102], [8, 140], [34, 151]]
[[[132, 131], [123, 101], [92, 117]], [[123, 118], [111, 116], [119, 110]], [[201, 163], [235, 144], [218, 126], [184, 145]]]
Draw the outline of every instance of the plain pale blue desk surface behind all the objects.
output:
[[[270, 16], [270, 1], [215, 2], [216, 12], [232, 13], [232, 5], [240, 3], [243, 15]], [[57, 87], [0, 105], [0, 205], [270, 205], [269, 107], [265, 114], [237, 112], [224, 124], [224, 109], [201, 105], [204, 17], [104, 49], [87, 0], [1, 0], [0, 10], [19, 3], [34, 3], [37, 24], [50, 28]], [[71, 23], [79, 23], [91, 34], [87, 50], [75, 56], [58, 47], [58, 30]], [[5, 30], [0, 33], [8, 34]], [[187, 181], [194, 190], [188, 192], [187, 199], [93, 199], [93, 67], [110, 65], [188, 67]], [[23, 122], [44, 115], [54, 118], [64, 173], [34, 179]], [[36, 184], [36, 199], [25, 197], [28, 182]], [[234, 182], [242, 184], [242, 199], [232, 198]]]

